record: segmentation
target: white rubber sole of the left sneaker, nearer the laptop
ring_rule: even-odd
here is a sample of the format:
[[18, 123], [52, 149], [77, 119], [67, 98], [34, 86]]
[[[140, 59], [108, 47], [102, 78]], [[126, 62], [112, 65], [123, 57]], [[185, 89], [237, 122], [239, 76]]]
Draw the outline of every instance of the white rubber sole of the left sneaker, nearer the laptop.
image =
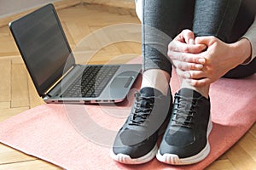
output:
[[113, 158], [113, 160], [119, 161], [120, 163], [124, 163], [124, 164], [143, 164], [154, 159], [154, 156], [156, 155], [157, 150], [158, 150], [157, 144], [155, 144], [153, 150], [149, 151], [147, 155], [136, 158], [136, 159], [132, 159], [130, 156], [127, 156], [125, 154], [116, 155], [113, 153], [113, 150], [111, 150], [110, 156]]

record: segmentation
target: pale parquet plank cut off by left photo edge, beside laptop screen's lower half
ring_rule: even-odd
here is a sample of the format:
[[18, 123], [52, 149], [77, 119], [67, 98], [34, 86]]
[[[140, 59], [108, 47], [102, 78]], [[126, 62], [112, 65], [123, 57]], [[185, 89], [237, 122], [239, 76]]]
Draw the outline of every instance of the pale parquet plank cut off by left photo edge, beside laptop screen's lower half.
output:
[[11, 60], [1, 59], [0, 61], [0, 101], [10, 101], [11, 99]]

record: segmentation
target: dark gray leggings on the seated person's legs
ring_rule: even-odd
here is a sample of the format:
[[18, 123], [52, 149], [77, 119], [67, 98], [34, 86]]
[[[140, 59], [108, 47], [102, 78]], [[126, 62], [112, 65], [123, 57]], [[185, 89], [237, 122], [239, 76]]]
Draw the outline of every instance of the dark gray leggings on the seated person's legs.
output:
[[[171, 75], [168, 43], [183, 29], [194, 31], [196, 37], [236, 42], [253, 23], [256, 6], [249, 4], [253, 1], [143, 0], [143, 71], [161, 69]], [[247, 77], [255, 71], [256, 59], [249, 65], [239, 65], [225, 77]]]

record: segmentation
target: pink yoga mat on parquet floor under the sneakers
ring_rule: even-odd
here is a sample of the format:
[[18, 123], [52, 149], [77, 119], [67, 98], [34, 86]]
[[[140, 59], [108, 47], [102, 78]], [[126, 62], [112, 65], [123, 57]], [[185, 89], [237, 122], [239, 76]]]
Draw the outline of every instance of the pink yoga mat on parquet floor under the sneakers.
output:
[[[256, 121], [256, 75], [212, 84], [213, 129], [207, 159], [190, 166], [170, 166], [154, 159], [127, 166], [109, 156], [115, 133], [125, 122], [132, 94], [117, 105], [40, 105], [0, 123], [0, 142], [66, 169], [203, 169], [221, 156]], [[178, 89], [173, 74], [172, 93]]]

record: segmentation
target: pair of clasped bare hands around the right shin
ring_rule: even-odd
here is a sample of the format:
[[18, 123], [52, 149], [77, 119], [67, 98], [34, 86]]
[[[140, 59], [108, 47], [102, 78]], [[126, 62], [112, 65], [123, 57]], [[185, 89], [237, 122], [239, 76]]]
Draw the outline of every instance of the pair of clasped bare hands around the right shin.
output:
[[241, 44], [250, 46], [248, 41], [225, 43], [217, 37], [195, 37], [193, 31], [183, 30], [169, 43], [168, 56], [179, 77], [194, 87], [203, 87], [243, 63], [248, 57], [244, 55], [249, 55], [244, 50], [250, 47], [241, 48]]

